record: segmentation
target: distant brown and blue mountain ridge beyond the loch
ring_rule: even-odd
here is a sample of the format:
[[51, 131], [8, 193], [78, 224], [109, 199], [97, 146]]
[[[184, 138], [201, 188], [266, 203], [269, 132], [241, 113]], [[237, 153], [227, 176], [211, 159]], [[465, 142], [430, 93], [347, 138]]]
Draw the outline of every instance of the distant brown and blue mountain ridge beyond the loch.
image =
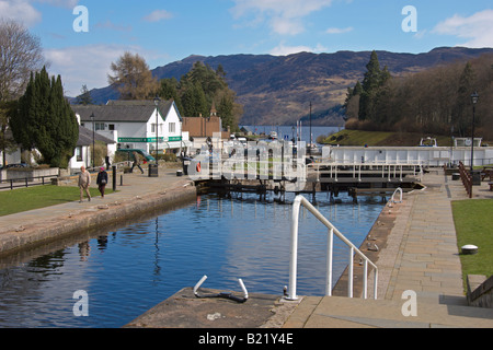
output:
[[[227, 72], [231, 90], [244, 105], [241, 125], [295, 125], [308, 120], [312, 103], [313, 125], [343, 125], [341, 105], [348, 86], [363, 80], [370, 51], [337, 51], [335, 54], [299, 52], [289, 56], [229, 55], [197, 56], [158, 67], [154, 77], [180, 78], [196, 61]], [[403, 75], [456, 61], [467, 61], [493, 48], [470, 49], [439, 47], [423, 54], [377, 51], [380, 66], [392, 75]], [[118, 98], [111, 86], [91, 91], [95, 103]]]

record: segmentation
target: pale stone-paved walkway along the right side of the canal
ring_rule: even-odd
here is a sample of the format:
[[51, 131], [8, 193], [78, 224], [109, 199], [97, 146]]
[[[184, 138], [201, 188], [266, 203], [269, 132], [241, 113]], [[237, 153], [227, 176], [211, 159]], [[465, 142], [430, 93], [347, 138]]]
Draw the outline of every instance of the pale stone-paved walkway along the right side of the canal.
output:
[[[493, 327], [493, 310], [466, 306], [450, 205], [467, 199], [466, 190], [442, 170], [426, 174], [423, 184], [424, 190], [404, 195], [403, 203], [382, 212], [393, 211], [397, 219], [376, 261], [378, 300], [305, 298], [284, 327]], [[483, 183], [473, 198], [493, 192]], [[415, 292], [416, 316], [404, 316], [412, 310], [404, 291]]]

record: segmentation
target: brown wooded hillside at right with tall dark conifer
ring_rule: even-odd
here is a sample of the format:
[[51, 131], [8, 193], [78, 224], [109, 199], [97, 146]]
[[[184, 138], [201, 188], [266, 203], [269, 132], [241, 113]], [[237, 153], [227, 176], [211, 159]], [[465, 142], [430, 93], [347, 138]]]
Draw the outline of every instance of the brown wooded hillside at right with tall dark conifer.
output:
[[346, 128], [467, 137], [474, 92], [477, 136], [493, 139], [492, 54], [392, 77], [374, 52], [363, 81], [348, 89]]

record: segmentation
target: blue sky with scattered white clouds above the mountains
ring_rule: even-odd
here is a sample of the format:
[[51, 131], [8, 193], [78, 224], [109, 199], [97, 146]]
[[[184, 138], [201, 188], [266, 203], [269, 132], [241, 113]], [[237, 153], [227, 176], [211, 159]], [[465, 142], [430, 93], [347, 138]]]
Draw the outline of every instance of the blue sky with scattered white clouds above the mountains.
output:
[[0, 0], [41, 39], [66, 95], [107, 86], [125, 51], [150, 69], [190, 55], [493, 47], [491, 0]]

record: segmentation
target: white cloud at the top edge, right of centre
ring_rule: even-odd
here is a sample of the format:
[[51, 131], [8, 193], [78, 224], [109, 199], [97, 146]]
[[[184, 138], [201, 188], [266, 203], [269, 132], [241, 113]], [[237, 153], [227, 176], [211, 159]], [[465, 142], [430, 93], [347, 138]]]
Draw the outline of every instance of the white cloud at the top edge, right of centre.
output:
[[305, 31], [302, 19], [329, 7], [333, 0], [234, 0], [231, 9], [236, 19], [253, 14], [251, 25], [267, 22], [272, 31], [296, 35]]

